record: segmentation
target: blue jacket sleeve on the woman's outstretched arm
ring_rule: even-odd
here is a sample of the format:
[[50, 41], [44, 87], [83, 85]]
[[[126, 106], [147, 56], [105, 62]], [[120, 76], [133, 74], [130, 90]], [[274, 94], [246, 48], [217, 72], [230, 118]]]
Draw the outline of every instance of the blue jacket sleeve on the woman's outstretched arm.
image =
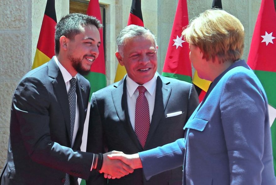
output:
[[138, 152], [138, 154], [142, 162], [143, 173], [146, 179], [149, 180], [153, 175], [183, 165], [185, 140], [180, 138], [172, 143]]

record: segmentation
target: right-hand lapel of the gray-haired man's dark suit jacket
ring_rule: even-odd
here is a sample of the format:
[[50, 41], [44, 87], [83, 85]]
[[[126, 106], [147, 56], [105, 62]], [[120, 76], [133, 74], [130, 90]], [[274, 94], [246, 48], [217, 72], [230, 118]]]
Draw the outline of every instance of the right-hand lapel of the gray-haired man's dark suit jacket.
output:
[[160, 115], [164, 114], [164, 110], [166, 109], [166, 105], [172, 91], [172, 88], [167, 85], [170, 82], [165, 78], [162, 78], [162, 79], [161, 78], [162, 77], [160, 75], [157, 76], [155, 103], [154, 103], [154, 109], [153, 109], [152, 118], [151, 118], [151, 126], [146, 140], [146, 145], [151, 140], [151, 137], [154, 134], [160, 119], [162, 118], [162, 116]]

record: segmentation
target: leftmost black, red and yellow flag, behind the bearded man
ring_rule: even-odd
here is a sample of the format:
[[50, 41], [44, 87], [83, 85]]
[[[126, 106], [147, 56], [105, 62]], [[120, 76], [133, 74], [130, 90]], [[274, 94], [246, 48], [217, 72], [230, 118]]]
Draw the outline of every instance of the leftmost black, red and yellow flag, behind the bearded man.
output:
[[55, 0], [47, 0], [32, 69], [48, 62], [55, 55], [55, 26]]

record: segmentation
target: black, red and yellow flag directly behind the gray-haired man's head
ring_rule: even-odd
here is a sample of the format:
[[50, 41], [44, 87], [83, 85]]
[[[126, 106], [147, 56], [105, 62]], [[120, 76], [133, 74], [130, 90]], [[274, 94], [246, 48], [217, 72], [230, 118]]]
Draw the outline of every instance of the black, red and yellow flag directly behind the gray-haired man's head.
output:
[[[127, 25], [135, 24], [138, 26], [144, 26], [143, 16], [141, 10], [141, 0], [132, 0], [130, 15]], [[126, 74], [125, 66], [118, 64], [114, 82], [118, 82], [123, 79]]]

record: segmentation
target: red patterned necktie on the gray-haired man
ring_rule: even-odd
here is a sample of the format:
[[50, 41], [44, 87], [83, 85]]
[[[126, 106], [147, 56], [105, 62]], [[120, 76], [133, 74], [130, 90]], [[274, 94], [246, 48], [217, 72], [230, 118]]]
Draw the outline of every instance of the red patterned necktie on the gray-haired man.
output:
[[146, 138], [150, 130], [149, 103], [146, 99], [146, 88], [142, 85], [137, 87], [139, 95], [135, 106], [135, 133], [142, 147], [145, 147]]

